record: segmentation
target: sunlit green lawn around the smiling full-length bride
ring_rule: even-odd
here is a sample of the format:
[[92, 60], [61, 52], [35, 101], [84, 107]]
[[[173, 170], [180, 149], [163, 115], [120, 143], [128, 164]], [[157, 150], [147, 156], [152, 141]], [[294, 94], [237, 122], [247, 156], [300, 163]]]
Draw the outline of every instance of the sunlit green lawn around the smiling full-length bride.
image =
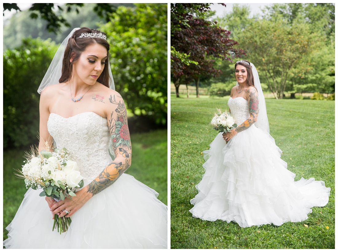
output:
[[[334, 101], [266, 99], [270, 134], [288, 169], [325, 182], [329, 203], [314, 207], [303, 222], [241, 228], [237, 223], [193, 218], [190, 204], [204, 174], [201, 152], [218, 134], [208, 123], [227, 107], [225, 98], [171, 97], [171, 248], [335, 248]], [[308, 227], [306, 227], [306, 224]]]

